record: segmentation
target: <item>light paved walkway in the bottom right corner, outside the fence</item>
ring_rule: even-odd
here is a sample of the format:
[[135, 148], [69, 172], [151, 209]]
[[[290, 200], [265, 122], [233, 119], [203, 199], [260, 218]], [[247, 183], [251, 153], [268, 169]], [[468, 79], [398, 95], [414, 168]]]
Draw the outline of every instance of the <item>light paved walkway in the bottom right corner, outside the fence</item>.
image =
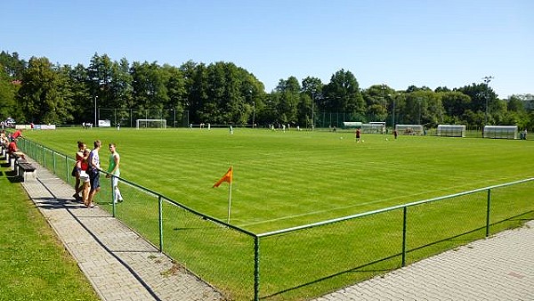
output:
[[315, 300], [534, 300], [534, 221]]

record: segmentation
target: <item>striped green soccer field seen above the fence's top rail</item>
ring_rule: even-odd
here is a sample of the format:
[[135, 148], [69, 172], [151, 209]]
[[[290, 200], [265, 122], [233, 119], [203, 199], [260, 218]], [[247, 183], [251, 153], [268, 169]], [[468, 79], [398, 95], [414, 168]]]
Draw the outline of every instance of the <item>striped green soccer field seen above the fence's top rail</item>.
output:
[[268, 232], [532, 176], [534, 143], [435, 136], [268, 131], [263, 129], [60, 129], [26, 131], [66, 154], [100, 139], [121, 154], [121, 177], [208, 216]]

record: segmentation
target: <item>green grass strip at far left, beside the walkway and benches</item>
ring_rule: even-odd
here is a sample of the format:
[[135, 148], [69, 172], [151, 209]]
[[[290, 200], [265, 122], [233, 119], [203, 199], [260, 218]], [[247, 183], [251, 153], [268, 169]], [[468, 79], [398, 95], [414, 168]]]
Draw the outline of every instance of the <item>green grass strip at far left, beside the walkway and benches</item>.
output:
[[0, 170], [0, 300], [99, 300], [11, 168]]

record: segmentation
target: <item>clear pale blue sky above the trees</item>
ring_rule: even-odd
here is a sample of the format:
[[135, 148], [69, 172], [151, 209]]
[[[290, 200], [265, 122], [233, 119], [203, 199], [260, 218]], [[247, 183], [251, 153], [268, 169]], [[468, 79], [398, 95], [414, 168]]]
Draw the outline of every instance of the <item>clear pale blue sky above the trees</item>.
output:
[[481, 83], [499, 97], [534, 94], [534, 1], [42, 0], [0, 11], [0, 50], [85, 66], [112, 60], [231, 61], [270, 92], [280, 78], [361, 88]]

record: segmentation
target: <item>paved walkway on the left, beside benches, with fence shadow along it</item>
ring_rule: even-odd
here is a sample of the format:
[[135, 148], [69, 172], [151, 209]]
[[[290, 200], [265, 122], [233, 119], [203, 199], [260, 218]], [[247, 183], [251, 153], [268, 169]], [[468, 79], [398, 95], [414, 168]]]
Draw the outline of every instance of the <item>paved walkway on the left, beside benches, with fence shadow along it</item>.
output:
[[43, 167], [22, 183], [102, 300], [221, 300], [109, 213], [74, 201], [73, 189]]

